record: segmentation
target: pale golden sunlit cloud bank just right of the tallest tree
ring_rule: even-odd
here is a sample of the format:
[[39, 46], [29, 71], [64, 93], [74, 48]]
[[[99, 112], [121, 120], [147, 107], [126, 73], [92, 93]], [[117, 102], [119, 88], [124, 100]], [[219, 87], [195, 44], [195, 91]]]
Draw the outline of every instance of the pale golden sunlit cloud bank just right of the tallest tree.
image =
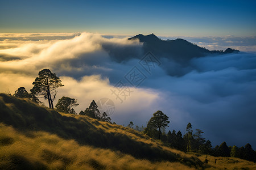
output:
[[[61, 76], [60, 78], [65, 86], [58, 90], [58, 95], [78, 99], [80, 105], [76, 108], [77, 111], [84, 111], [85, 108], [89, 107], [92, 100], [98, 101], [107, 97], [114, 101], [115, 113], [112, 118], [114, 118], [115, 121], [118, 121], [117, 117], [123, 117], [124, 113], [127, 113], [127, 120], [133, 119], [133, 114], [142, 113], [142, 116], [145, 114], [143, 111], [150, 109], [154, 101], [159, 99], [157, 92], [144, 88], [129, 87], [130, 95], [121, 102], [121, 100], [117, 100], [116, 97], [112, 95], [111, 90], [114, 90], [115, 87], [110, 85], [108, 79], [102, 79], [100, 75], [84, 76], [80, 80], [67, 76]], [[133, 107], [131, 107], [131, 105]], [[144, 118], [144, 116], [142, 117]]]

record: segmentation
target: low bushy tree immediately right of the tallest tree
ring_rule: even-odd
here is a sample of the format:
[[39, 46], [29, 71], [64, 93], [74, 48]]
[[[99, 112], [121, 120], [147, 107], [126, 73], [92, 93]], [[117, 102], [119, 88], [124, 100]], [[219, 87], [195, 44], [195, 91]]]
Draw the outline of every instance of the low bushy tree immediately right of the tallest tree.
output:
[[75, 113], [72, 107], [77, 107], [77, 100], [70, 97], [63, 96], [58, 100], [56, 104], [57, 111], [64, 113]]

